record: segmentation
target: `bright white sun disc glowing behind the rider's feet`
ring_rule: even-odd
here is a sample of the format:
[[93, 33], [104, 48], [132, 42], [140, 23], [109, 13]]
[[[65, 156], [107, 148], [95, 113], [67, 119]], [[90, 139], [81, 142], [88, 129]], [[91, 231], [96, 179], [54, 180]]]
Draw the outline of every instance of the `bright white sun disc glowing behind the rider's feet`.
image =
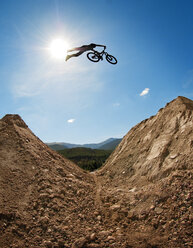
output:
[[54, 39], [49, 46], [52, 57], [56, 59], [64, 59], [68, 49], [68, 43], [63, 39]]

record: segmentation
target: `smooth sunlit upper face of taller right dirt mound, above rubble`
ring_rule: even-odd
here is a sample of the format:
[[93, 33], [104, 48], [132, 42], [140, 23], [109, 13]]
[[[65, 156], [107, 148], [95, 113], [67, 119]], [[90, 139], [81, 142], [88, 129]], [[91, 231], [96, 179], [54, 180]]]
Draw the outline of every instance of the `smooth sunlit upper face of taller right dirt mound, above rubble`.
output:
[[[101, 173], [116, 185], [145, 185], [176, 169], [192, 169], [193, 101], [178, 97], [133, 127]], [[119, 181], [120, 179], [120, 181]]]

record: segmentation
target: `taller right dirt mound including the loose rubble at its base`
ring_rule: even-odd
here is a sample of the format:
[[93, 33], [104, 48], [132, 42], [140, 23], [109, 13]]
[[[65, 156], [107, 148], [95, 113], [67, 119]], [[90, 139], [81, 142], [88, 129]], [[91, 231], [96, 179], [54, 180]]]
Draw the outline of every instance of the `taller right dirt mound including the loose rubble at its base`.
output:
[[192, 247], [193, 101], [133, 127], [98, 173], [109, 225], [128, 247]]

